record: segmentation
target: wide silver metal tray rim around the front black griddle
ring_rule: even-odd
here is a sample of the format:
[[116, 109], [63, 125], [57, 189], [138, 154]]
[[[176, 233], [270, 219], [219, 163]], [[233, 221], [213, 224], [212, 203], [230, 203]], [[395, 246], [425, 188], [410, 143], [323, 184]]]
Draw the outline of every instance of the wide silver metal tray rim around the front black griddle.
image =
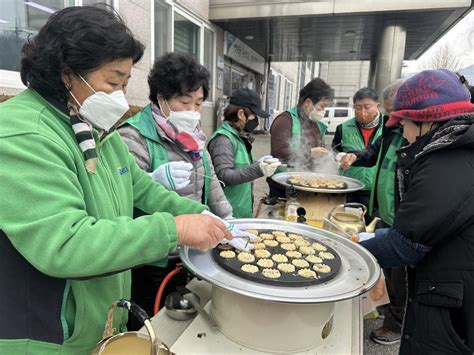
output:
[[212, 250], [184, 247], [181, 260], [198, 278], [238, 294], [285, 303], [324, 303], [357, 297], [370, 290], [380, 277], [376, 259], [365, 248], [340, 235], [306, 224], [271, 219], [235, 219], [240, 229], [271, 229], [301, 234], [337, 252], [341, 260], [339, 272], [326, 282], [301, 287], [282, 287], [249, 281], [220, 266]]

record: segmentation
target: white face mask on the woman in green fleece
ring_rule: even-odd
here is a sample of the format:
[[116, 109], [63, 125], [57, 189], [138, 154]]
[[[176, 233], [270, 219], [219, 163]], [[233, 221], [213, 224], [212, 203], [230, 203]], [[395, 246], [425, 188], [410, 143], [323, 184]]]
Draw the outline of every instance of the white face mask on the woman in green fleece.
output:
[[79, 77], [94, 93], [79, 104], [71, 91], [70, 94], [80, 106], [79, 115], [87, 120], [94, 128], [109, 131], [112, 126], [128, 111], [127, 99], [122, 90], [107, 94], [95, 91], [82, 76]]

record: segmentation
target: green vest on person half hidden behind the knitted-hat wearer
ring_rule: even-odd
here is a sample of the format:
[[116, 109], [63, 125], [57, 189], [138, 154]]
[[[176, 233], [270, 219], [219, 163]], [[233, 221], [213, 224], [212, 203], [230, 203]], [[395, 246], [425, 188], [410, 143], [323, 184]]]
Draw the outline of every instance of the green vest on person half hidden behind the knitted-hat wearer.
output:
[[388, 225], [393, 224], [395, 216], [395, 172], [397, 169], [397, 150], [403, 142], [401, 130], [396, 131], [396, 136], [390, 142], [384, 156], [382, 156], [384, 141], [380, 145], [377, 158], [378, 174], [375, 179], [375, 188], [370, 194], [369, 214], [373, 213], [375, 192], [377, 192], [377, 204], [379, 216]]

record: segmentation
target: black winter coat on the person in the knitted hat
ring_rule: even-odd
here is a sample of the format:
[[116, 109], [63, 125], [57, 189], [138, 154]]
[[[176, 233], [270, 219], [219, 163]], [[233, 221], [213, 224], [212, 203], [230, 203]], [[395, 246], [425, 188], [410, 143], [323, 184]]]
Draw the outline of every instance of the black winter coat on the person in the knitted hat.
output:
[[474, 349], [473, 122], [474, 114], [452, 119], [398, 152], [401, 202], [390, 230], [429, 250], [408, 267], [401, 354]]

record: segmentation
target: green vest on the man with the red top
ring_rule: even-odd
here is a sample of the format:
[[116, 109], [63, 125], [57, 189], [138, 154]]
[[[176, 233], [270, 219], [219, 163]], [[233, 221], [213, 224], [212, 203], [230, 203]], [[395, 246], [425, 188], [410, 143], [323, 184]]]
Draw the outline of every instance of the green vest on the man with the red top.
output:
[[[382, 134], [383, 125], [381, 124], [375, 134], [369, 141], [372, 144]], [[355, 118], [352, 118], [342, 124], [342, 151], [354, 151], [365, 149], [364, 138], [357, 127]], [[374, 184], [377, 167], [365, 168], [359, 166], [351, 166], [344, 172], [345, 176], [352, 177], [364, 183], [364, 190], [371, 190]]]

